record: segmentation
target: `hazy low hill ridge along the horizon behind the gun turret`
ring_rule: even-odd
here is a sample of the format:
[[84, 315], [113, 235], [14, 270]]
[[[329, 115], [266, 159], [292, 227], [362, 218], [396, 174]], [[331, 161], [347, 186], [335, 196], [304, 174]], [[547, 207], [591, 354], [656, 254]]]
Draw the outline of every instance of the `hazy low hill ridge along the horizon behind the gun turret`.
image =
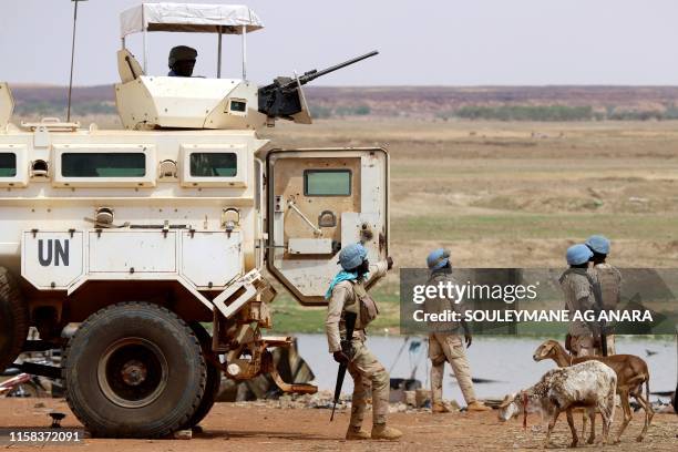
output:
[[[65, 88], [13, 85], [11, 89], [19, 115], [58, 115], [65, 110]], [[316, 117], [678, 119], [678, 86], [308, 86], [305, 92]], [[73, 112], [115, 114], [113, 86], [74, 88]]]

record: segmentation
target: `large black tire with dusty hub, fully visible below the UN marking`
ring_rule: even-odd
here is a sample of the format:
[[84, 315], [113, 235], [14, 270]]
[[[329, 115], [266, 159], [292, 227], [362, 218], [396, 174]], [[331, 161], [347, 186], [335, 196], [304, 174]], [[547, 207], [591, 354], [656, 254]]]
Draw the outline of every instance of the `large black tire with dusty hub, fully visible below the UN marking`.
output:
[[122, 302], [95, 312], [63, 359], [66, 400], [93, 436], [168, 435], [195, 414], [205, 392], [197, 337], [152, 304]]

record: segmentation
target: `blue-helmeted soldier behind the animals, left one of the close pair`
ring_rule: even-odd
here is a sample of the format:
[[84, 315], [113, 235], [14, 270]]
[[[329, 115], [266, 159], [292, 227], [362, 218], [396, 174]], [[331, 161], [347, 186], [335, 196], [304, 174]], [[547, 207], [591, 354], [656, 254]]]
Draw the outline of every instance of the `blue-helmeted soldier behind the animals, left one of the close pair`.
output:
[[[569, 268], [561, 276], [559, 281], [571, 318], [575, 311], [584, 312], [595, 309], [593, 279], [587, 273], [588, 260], [592, 257], [593, 251], [584, 244], [571, 246], [565, 254]], [[575, 357], [598, 355], [595, 347], [598, 331], [595, 330], [594, 325], [573, 319], [568, 330], [566, 348]]]

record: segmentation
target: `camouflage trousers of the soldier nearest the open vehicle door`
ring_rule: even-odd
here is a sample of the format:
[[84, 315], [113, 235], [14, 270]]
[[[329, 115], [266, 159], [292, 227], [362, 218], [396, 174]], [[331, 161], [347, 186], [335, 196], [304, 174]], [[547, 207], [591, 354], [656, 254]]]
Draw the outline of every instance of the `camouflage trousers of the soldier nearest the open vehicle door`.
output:
[[362, 340], [353, 339], [353, 358], [348, 371], [353, 379], [351, 427], [361, 427], [370, 387], [372, 388], [372, 423], [386, 423], [389, 413], [389, 372]]

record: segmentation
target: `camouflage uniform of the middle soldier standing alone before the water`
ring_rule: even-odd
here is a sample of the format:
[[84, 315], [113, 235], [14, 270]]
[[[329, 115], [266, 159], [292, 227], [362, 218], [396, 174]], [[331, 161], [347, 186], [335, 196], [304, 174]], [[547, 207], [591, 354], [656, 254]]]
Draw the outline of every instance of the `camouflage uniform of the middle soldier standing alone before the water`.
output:
[[[449, 270], [433, 271], [427, 285], [438, 286], [439, 282], [456, 285], [456, 280]], [[463, 300], [448, 298], [427, 299], [424, 309], [429, 314], [441, 314], [445, 310], [454, 310], [463, 315]], [[445, 361], [450, 363], [459, 388], [464, 396], [466, 404], [475, 402], [475, 391], [471, 381], [471, 366], [466, 359], [462, 326], [459, 322], [430, 322], [429, 323], [429, 358], [431, 359], [431, 398], [433, 404], [442, 403], [442, 381]]]

